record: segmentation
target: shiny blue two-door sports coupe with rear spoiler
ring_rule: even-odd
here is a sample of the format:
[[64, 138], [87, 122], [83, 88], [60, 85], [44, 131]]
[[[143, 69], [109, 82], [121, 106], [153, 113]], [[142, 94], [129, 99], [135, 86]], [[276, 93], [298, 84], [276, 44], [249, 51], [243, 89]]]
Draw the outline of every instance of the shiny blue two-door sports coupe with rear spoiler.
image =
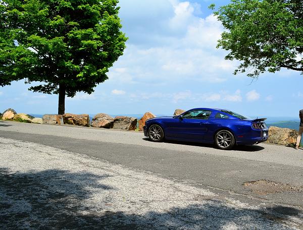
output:
[[267, 140], [266, 119], [251, 119], [227, 109], [193, 108], [179, 116], [148, 119], [144, 136], [151, 141], [164, 139], [215, 144], [219, 149], [253, 145]]

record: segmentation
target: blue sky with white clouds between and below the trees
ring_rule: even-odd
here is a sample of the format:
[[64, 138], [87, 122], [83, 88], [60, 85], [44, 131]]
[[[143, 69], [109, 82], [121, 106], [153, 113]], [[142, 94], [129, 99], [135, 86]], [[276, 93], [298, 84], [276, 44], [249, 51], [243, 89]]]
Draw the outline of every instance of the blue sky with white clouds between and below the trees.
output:
[[[224, 31], [212, 11], [229, 1], [121, 0], [124, 55], [94, 93], [66, 99], [66, 112], [173, 114], [176, 108], [227, 108], [246, 116], [297, 117], [303, 76], [283, 69], [252, 81], [217, 49]], [[24, 81], [0, 87], [0, 112], [57, 113], [58, 96], [28, 91]]]

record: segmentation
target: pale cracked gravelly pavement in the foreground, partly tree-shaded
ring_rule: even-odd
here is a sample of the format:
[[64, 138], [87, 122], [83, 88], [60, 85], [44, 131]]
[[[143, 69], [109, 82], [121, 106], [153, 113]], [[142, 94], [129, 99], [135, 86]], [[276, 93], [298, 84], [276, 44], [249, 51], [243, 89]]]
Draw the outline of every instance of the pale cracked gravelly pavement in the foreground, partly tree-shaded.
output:
[[296, 209], [279, 214], [47, 145], [0, 137], [0, 149], [2, 229], [303, 229]]

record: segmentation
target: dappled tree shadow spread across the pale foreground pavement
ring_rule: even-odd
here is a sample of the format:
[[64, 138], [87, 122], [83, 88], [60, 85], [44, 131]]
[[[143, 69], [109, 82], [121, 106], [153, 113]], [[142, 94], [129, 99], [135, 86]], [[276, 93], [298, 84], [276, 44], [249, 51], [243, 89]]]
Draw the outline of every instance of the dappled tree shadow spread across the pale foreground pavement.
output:
[[[2, 168], [0, 226], [3, 229], [222, 229], [228, 226], [289, 229], [284, 225], [285, 217], [245, 207], [235, 208], [220, 200], [144, 214], [109, 211], [100, 208], [100, 204], [88, 204], [86, 200], [96, 189], [98, 192], [116, 190], [98, 183], [108, 177], [65, 170], [12, 174]], [[115, 202], [115, 197], [109, 199]], [[81, 214], [81, 211], [86, 212]], [[288, 215], [297, 213], [292, 210]]]

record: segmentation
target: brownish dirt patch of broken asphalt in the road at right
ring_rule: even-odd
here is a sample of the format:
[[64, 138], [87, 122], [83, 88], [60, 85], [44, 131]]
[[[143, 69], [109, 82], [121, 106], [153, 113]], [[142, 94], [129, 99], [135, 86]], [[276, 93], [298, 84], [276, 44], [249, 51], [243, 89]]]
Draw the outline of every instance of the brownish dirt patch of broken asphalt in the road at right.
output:
[[278, 182], [272, 182], [267, 180], [245, 182], [244, 187], [251, 189], [252, 192], [267, 195], [281, 192], [303, 192], [303, 187], [291, 186], [289, 184], [283, 184]]

